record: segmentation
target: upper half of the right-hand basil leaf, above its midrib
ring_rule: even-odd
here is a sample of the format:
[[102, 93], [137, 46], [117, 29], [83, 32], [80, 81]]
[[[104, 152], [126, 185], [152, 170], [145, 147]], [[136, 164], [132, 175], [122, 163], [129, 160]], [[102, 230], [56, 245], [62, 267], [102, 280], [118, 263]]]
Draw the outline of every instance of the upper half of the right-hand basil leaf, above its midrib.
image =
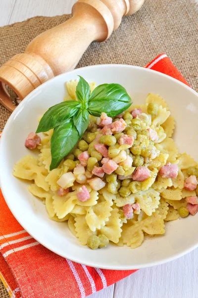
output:
[[126, 89], [120, 84], [102, 84], [94, 89], [89, 102], [93, 100], [115, 100], [122, 102], [130, 102], [131, 98]]

